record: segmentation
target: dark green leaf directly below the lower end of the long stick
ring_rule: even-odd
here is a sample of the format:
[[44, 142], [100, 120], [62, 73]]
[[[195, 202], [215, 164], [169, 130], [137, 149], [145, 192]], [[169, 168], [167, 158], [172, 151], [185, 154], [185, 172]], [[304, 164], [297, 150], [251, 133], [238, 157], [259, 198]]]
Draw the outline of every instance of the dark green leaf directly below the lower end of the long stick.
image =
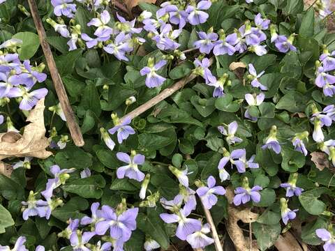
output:
[[55, 155], [56, 164], [61, 168], [84, 169], [91, 167], [92, 156], [77, 146], [67, 146]]

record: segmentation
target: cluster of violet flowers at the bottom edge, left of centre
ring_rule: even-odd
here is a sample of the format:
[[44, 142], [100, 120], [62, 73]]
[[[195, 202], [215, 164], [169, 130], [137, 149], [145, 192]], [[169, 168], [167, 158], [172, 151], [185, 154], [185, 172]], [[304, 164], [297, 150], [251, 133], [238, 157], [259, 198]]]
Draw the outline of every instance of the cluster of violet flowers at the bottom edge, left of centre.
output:
[[[101, 209], [99, 207], [100, 204], [94, 202], [91, 204], [91, 217], [68, 220], [68, 227], [58, 234], [70, 241], [73, 250], [124, 250], [124, 243], [136, 229], [138, 208], [127, 208], [125, 199], [117, 208], [107, 205], [101, 206]], [[94, 236], [99, 236], [105, 242], [101, 244], [100, 240], [96, 244], [89, 243]]]

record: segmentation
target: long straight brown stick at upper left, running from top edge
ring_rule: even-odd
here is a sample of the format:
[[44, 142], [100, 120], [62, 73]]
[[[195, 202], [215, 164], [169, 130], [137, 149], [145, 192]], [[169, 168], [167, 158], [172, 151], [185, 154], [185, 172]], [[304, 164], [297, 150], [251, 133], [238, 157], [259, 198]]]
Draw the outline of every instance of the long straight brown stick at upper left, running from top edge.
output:
[[75, 120], [75, 114], [73, 113], [63, 82], [61, 81], [61, 76], [57, 70], [56, 63], [54, 62], [50, 45], [47, 43], [47, 36], [45, 34], [42, 20], [40, 20], [40, 16], [38, 15], [38, 8], [34, 0], [28, 0], [28, 3], [38, 32], [38, 37], [40, 38], [40, 45], [42, 46], [43, 53], [47, 61], [47, 67], [50, 70], [50, 75], [52, 81], [54, 82], [54, 89], [56, 90], [59, 102], [61, 103], [61, 109], [64, 111], [71, 137], [76, 146], [84, 146], [82, 132], [80, 132], [80, 128]]

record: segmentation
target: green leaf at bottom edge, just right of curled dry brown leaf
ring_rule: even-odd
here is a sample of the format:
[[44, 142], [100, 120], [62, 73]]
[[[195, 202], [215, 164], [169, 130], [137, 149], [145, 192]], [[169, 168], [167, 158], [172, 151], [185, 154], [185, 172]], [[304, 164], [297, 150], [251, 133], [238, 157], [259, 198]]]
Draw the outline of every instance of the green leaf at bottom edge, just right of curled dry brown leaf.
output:
[[253, 234], [257, 239], [260, 250], [267, 250], [274, 245], [278, 236], [281, 234], [281, 225], [265, 225], [258, 222], [253, 222]]

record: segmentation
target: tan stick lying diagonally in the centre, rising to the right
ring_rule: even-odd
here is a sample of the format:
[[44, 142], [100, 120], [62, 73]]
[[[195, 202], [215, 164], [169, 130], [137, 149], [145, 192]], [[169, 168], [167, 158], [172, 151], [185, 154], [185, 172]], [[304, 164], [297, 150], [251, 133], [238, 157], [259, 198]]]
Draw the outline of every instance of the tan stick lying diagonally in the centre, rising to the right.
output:
[[[213, 59], [209, 59], [209, 63], [212, 64]], [[183, 88], [188, 82], [191, 82], [193, 79], [195, 79], [195, 77], [198, 77], [198, 75], [195, 75], [195, 74], [192, 73], [191, 75], [188, 75], [187, 77], [184, 77], [184, 78], [180, 79], [178, 82], [176, 82], [172, 86], [168, 87], [167, 89], [165, 89], [164, 91], [159, 93], [154, 98], [151, 98], [151, 100], [145, 102], [143, 105], [140, 105], [136, 109], [133, 109], [133, 111], [131, 111], [128, 114], [126, 114], [125, 116], [123, 116], [121, 118], [121, 121], [123, 121], [127, 117], [129, 117], [131, 119], [134, 119], [135, 117], [139, 116], [143, 112], [146, 112], [151, 107], [154, 107], [154, 105], [157, 105], [162, 100], [165, 100], [165, 98], [170, 97], [173, 93], [175, 93], [179, 89]]]

